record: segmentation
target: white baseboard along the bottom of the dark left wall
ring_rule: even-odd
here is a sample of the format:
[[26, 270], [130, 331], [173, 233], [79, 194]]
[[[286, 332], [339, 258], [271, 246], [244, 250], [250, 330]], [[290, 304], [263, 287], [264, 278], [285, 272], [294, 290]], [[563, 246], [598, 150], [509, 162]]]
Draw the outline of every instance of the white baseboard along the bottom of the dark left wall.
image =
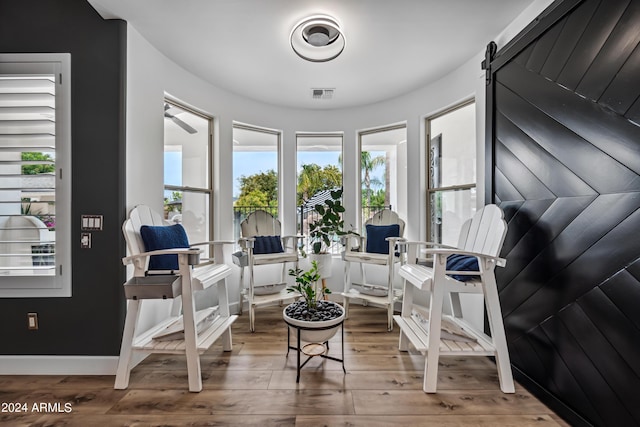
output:
[[[146, 357], [134, 354], [133, 366]], [[0, 356], [0, 375], [115, 375], [118, 356]]]

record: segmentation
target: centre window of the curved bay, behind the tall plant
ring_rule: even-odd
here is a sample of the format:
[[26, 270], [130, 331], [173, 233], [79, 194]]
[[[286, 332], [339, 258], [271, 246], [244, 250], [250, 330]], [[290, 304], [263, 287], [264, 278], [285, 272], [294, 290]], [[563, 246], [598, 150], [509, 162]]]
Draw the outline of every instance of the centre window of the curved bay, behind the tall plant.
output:
[[[300, 234], [309, 234], [309, 224], [317, 219], [316, 204], [331, 197], [329, 191], [342, 187], [342, 133], [298, 133], [296, 188], [297, 226]], [[309, 239], [305, 244], [309, 245]], [[339, 238], [329, 248], [331, 253], [340, 252]], [[310, 248], [305, 248], [310, 252]]]

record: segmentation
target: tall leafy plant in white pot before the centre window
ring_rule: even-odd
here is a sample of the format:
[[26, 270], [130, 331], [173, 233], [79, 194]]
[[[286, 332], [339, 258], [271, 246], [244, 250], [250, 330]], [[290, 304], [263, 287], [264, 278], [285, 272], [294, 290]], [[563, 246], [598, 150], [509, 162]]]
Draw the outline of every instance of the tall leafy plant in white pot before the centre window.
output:
[[329, 248], [338, 236], [343, 236], [345, 209], [342, 205], [342, 189], [331, 190], [331, 198], [323, 204], [314, 206], [318, 214], [315, 221], [309, 224], [309, 239], [311, 241], [311, 260], [316, 260], [322, 278], [331, 276], [331, 254]]

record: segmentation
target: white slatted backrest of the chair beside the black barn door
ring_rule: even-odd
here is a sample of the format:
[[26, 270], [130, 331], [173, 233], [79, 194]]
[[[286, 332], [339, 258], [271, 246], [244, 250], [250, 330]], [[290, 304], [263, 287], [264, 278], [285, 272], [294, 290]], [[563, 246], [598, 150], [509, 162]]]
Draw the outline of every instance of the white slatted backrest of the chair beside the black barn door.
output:
[[507, 235], [507, 223], [502, 209], [487, 205], [461, 228], [458, 248], [490, 256], [498, 256]]

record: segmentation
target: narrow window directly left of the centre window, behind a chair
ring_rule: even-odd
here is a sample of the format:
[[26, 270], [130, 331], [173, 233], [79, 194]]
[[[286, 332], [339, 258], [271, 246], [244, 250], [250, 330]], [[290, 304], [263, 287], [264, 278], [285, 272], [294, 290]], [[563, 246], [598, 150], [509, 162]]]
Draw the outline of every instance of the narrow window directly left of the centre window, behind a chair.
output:
[[278, 218], [280, 132], [240, 123], [233, 125], [233, 232], [262, 209]]

